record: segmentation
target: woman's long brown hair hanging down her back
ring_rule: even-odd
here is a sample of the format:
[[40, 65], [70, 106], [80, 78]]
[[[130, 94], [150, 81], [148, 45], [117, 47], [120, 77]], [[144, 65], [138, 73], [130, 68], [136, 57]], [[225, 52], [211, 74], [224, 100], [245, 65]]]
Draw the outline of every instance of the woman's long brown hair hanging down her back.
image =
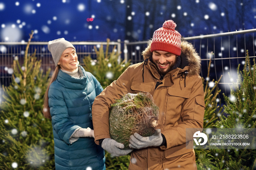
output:
[[52, 82], [54, 80], [56, 80], [57, 76], [58, 76], [58, 73], [59, 73], [59, 70], [60, 70], [60, 65], [57, 65], [56, 69], [54, 70], [53, 74], [52, 74], [52, 78], [50, 79], [50, 82], [49, 82], [49, 85], [46, 89], [46, 92], [45, 92], [45, 95], [44, 95], [44, 108], [43, 108], [43, 114], [44, 114], [44, 117], [47, 118], [47, 119], [52, 119], [52, 116], [50, 114], [50, 108], [49, 108], [49, 103], [48, 103], [48, 91], [49, 91], [49, 87], [50, 85], [52, 84]]

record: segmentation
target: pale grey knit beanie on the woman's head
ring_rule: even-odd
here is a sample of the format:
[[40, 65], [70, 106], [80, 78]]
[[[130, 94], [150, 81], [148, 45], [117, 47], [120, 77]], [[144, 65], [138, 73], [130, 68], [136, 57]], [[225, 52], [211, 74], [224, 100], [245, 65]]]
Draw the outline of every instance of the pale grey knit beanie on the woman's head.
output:
[[61, 54], [67, 48], [73, 48], [76, 51], [75, 47], [64, 38], [54, 39], [48, 42], [48, 50], [52, 54], [52, 58], [55, 63], [55, 66], [58, 65]]

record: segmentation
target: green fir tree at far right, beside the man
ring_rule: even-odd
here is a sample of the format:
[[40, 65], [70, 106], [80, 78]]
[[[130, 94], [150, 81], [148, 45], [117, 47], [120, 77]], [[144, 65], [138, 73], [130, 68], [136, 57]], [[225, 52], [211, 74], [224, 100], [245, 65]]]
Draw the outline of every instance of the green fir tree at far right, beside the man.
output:
[[[224, 112], [213, 128], [255, 128], [256, 127], [256, 65], [253, 65], [246, 51], [246, 61], [242, 71], [237, 68], [238, 79], [231, 89], [231, 96], [224, 95]], [[197, 159], [198, 169], [211, 170], [255, 170], [255, 149], [210, 149], [202, 152]]]

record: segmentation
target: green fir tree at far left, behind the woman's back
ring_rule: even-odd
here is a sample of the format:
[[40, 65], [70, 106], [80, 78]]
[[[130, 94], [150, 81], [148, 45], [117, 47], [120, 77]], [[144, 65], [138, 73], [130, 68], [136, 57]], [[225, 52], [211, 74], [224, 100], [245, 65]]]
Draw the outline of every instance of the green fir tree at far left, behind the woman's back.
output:
[[4, 87], [0, 105], [0, 169], [54, 169], [52, 124], [44, 119], [42, 105], [50, 70], [43, 74], [41, 61], [28, 54], [24, 63], [13, 63], [11, 85]]

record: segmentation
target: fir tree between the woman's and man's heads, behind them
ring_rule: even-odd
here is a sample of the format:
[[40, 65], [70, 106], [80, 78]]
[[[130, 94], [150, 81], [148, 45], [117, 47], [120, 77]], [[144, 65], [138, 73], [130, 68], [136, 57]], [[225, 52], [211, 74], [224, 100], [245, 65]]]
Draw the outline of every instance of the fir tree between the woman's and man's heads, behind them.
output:
[[131, 65], [129, 61], [125, 61], [121, 58], [118, 59], [120, 54], [117, 53], [116, 46], [114, 46], [111, 53], [109, 52], [109, 42], [110, 39], [107, 39], [105, 51], [103, 45], [101, 45], [99, 49], [94, 46], [97, 55], [95, 60], [92, 59], [90, 55], [83, 59], [84, 69], [87, 72], [91, 72], [97, 78], [103, 89], [114, 80], [117, 80], [124, 70]]

